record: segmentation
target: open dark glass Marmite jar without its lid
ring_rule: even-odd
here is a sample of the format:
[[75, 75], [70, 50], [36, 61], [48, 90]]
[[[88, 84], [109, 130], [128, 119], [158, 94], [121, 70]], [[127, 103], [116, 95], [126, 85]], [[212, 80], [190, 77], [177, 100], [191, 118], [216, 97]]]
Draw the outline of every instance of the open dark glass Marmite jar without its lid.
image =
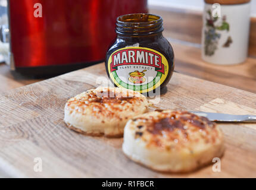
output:
[[174, 69], [174, 53], [163, 37], [163, 19], [154, 14], [128, 14], [117, 18], [113, 45], [105, 66], [117, 87], [148, 93], [163, 88]]

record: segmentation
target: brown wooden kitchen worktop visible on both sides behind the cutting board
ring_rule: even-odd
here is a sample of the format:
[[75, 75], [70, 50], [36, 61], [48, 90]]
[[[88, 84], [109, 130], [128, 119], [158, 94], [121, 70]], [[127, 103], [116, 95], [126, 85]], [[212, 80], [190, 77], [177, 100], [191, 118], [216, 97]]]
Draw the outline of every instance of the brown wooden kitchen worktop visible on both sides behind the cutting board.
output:
[[[174, 49], [176, 72], [256, 93], [256, 58], [250, 57], [239, 65], [208, 64], [202, 61], [201, 50], [195, 44], [168, 39]], [[0, 64], [0, 80], [0, 92], [3, 92], [36, 83], [44, 78], [36, 79], [16, 72], [11, 73], [7, 65]]]

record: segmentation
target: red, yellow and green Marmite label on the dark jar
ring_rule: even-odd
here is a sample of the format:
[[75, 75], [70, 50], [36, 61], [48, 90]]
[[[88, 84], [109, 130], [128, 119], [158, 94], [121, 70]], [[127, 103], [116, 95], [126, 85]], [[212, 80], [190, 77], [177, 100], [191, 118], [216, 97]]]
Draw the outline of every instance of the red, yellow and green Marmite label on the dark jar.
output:
[[108, 72], [115, 85], [140, 93], [160, 87], [168, 71], [166, 57], [147, 47], [124, 47], [108, 59]]

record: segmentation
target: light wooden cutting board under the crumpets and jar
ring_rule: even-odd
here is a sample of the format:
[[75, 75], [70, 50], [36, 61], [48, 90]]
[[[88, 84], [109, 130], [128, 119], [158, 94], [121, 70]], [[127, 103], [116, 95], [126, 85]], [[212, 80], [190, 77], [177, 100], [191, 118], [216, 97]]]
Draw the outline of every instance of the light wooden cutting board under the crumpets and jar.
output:
[[[86, 137], [66, 128], [65, 102], [106, 80], [99, 64], [2, 93], [0, 170], [36, 178], [256, 177], [256, 124], [220, 124], [226, 144], [221, 172], [210, 165], [187, 174], [153, 172], [130, 161], [122, 138]], [[163, 93], [154, 107], [256, 115], [256, 94], [187, 75], [174, 73]], [[42, 172], [35, 172], [40, 159]]]

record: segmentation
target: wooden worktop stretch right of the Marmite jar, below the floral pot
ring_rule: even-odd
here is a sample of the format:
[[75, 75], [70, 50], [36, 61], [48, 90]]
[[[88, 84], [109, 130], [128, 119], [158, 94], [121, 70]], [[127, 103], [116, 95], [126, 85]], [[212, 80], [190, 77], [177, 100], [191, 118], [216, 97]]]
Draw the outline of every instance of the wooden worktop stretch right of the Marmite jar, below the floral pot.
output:
[[201, 59], [201, 49], [175, 43], [170, 39], [175, 55], [174, 70], [230, 87], [256, 93], [256, 59], [247, 58], [238, 65], [215, 65]]

